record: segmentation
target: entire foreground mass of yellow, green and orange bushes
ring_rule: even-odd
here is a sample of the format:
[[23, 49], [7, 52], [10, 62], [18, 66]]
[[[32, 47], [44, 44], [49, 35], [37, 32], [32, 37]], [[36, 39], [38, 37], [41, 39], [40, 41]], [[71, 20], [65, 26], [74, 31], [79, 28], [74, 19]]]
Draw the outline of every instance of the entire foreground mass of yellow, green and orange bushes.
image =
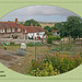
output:
[[80, 55], [47, 55], [44, 60], [33, 60], [30, 73], [36, 77], [48, 77], [63, 73], [77, 68], [82, 63]]

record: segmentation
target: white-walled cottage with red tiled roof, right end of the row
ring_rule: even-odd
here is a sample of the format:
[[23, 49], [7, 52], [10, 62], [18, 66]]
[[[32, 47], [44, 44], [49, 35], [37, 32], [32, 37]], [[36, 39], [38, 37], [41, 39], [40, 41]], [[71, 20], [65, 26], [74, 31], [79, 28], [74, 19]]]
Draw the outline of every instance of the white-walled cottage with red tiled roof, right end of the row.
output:
[[24, 30], [26, 39], [45, 38], [45, 31], [40, 26], [24, 26]]

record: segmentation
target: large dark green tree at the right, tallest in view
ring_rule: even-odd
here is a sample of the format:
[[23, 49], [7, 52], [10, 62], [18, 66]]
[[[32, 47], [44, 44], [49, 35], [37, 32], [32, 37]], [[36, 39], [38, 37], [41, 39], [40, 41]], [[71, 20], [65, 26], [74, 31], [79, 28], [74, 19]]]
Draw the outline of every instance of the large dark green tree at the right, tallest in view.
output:
[[60, 28], [60, 36], [71, 36], [74, 40], [78, 36], [82, 37], [82, 20], [79, 16], [68, 16]]

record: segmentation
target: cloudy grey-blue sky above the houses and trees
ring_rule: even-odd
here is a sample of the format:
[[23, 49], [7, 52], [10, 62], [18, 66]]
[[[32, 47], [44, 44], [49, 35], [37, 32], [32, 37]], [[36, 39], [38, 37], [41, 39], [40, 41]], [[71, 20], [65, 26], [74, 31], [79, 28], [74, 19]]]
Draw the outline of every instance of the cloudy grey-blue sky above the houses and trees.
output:
[[0, 21], [14, 21], [17, 19], [22, 22], [34, 19], [39, 22], [63, 22], [70, 15], [77, 14], [52, 5], [31, 5], [14, 10], [1, 17]]

